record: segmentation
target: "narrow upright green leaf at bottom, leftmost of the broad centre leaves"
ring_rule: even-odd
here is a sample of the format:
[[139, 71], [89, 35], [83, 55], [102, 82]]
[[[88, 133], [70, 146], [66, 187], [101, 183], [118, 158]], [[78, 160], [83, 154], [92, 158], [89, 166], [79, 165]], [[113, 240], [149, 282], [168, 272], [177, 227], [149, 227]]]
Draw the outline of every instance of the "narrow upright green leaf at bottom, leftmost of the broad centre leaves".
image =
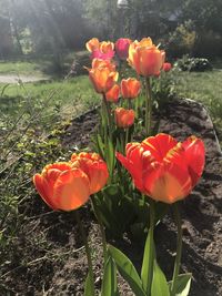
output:
[[117, 266], [112, 257], [110, 256], [104, 267], [101, 296], [117, 296], [117, 295], [118, 295]]

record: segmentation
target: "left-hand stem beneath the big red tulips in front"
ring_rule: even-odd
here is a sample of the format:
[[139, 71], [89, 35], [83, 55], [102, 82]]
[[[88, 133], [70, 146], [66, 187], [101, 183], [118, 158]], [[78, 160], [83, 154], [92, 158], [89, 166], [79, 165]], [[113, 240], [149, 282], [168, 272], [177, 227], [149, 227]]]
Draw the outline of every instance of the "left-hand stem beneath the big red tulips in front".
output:
[[151, 286], [152, 286], [152, 278], [153, 278], [153, 259], [154, 259], [154, 241], [153, 241], [153, 233], [155, 226], [155, 208], [153, 200], [150, 200], [150, 261], [149, 261], [149, 272], [148, 272], [148, 288], [147, 295], [151, 295]]

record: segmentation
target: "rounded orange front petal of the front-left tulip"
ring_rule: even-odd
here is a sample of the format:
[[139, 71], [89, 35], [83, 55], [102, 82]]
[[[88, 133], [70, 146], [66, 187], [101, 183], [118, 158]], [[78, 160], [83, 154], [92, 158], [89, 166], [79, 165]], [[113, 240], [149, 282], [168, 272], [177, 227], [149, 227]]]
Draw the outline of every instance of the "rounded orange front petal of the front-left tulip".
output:
[[60, 210], [75, 210], [85, 204], [89, 196], [89, 178], [79, 169], [61, 173], [54, 184], [53, 200]]

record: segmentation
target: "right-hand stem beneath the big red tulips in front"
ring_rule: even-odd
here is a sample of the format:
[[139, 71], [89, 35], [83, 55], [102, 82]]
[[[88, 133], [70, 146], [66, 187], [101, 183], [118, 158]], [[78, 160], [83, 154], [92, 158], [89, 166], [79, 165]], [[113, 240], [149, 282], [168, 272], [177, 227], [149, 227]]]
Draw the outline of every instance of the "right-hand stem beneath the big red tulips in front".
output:
[[178, 275], [180, 272], [180, 265], [181, 265], [181, 255], [182, 255], [182, 227], [181, 227], [181, 215], [178, 207], [178, 204], [173, 204], [173, 213], [175, 217], [175, 224], [178, 227], [178, 239], [176, 239], [176, 255], [175, 255], [175, 262], [174, 262], [174, 271], [173, 271], [173, 279], [172, 279], [172, 286], [171, 286], [171, 295], [175, 295], [175, 287], [176, 287], [176, 280]]

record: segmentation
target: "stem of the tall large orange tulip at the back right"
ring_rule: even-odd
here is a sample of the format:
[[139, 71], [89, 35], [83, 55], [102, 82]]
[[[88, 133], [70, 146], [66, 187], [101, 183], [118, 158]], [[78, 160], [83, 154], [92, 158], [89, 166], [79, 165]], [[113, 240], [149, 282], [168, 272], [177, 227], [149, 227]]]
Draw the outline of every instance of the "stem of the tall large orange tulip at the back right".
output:
[[151, 135], [152, 123], [152, 90], [150, 78], [145, 79], [145, 134]]

